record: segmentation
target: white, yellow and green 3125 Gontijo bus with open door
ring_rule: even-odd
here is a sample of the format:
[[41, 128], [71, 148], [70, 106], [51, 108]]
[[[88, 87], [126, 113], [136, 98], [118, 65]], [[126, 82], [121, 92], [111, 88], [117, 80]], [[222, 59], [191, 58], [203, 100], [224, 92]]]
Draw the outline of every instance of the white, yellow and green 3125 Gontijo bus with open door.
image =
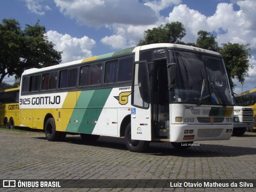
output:
[[150, 141], [187, 147], [228, 140], [233, 101], [219, 53], [151, 44], [42, 69], [21, 78], [21, 125], [84, 140], [124, 137], [141, 152]]

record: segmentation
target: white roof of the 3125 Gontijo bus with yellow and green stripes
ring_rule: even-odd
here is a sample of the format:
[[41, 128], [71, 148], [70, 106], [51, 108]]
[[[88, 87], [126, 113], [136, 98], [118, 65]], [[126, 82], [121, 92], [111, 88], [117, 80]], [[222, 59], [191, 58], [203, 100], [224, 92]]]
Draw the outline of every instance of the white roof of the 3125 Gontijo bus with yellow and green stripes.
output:
[[[210, 54], [214, 54], [214, 55], [220, 55], [220, 53], [217, 53], [214, 51], [209, 51], [206, 49], [196, 48], [193, 46], [180, 45], [180, 44], [168, 44], [168, 43], [145, 45], [145, 46], [141, 46], [140, 50], [157, 49], [157, 48], [180, 48], [180, 49], [188, 49], [188, 50], [192, 50], [192, 51], [210, 53]], [[58, 65], [52, 65], [52, 66], [44, 67], [44, 68], [40, 68], [40, 69], [38, 69], [38, 68], [27, 69], [23, 72], [23, 75], [30, 74], [30, 73], [36, 73], [36, 72], [40, 72], [40, 71], [47, 71], [50, 69], [58, 69], [60, 67], [76, 65], [76, 64], [80, 64], [80, 63], [95, 61], [95, 60], [99, 60], [99, 59], [105, 59], [108, 57], [114, 57], [114, 56], [124, 55], [124, 54], [128, 54], [128, 53], [134, 53], [135, 50], [136, 50], [136, 47], [132, 47], [132, 48], [128, 48], [128, 49], [123, 49], [121, 51], [106, 53], [103, 55], [93, 56], [93, 57], [89, 57], [89, 58], [85, 58], [85, 59], [80, 59], [77, 61], [71, 61], [68, 63], [61, 63]]]

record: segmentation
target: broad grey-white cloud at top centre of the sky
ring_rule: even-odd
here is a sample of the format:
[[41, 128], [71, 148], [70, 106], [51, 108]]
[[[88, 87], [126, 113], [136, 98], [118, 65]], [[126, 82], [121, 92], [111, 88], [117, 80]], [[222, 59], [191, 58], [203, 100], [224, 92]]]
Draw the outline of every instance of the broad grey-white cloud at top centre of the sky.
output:
[[155, 12], [138, 0], [54, 0], [60, 11], [78, 24], [110, 26], [113, 24], [152, 24]]

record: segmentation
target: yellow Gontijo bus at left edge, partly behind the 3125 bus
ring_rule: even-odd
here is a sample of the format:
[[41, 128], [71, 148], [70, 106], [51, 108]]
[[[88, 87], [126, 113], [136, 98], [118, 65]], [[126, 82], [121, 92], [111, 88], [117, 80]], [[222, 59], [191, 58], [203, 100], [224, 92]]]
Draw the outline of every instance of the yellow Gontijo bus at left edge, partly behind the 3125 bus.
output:
[[0, 90], [0, 125], [9, 129], [20, 125], [19, 92], [19, 87]]

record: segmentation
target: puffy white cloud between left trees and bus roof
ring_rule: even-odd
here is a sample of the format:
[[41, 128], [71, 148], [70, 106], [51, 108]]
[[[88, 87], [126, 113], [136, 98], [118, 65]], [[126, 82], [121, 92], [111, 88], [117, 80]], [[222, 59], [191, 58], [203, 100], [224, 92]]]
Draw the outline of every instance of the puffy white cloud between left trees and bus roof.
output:
[[48, 31], [46, 35], [55, 44], [57, 51], [63, 51], [62, 63], [92, 57], [90, 49], [96, 45], [96, 42], [87, 36], [78, 39], [56, 31]]

